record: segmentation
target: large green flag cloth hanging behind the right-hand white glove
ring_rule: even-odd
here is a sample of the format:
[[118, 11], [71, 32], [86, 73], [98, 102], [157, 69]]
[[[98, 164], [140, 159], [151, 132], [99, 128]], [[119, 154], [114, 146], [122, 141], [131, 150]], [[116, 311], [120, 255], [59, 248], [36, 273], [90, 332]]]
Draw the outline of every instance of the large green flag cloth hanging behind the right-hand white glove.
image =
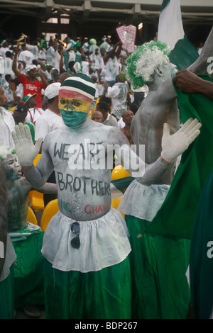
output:
[[200, 94], [176, 92], [183, 123], [190, 117], [197, 118], [202, 128], [182, 154], [168, 196], [146, 232], [190, 239], [200, 194], [213, 167], [213, 102]]

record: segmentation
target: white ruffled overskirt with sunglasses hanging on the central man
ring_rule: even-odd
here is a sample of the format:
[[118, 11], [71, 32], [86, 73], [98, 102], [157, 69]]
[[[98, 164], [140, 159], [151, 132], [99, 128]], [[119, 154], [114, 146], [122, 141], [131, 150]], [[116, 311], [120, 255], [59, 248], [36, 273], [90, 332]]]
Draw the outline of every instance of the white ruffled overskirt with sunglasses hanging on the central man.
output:
[[112, 208], [102, 218], [80, 221], [80, 248], [71, 246], [76, 235], [71, 218], [60, 210], [50, 220], [43, 237], [42, 254], [60, 271], [99, 271], [126, 259], [131, 247], [129, 232], [121, 213]]

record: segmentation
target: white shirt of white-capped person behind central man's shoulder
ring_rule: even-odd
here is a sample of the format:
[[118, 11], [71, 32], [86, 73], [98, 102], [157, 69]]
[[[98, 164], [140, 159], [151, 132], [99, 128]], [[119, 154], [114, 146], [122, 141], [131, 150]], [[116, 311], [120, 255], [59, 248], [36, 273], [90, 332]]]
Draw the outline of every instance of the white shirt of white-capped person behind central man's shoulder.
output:
[[35, 123], [35, 141], [39, 137], [43, 137], [44, 139], [49, 132], [58, 130], [63, 126], [65, 126], [65, 123], [60, 115], [56, 115], [47, 108]]

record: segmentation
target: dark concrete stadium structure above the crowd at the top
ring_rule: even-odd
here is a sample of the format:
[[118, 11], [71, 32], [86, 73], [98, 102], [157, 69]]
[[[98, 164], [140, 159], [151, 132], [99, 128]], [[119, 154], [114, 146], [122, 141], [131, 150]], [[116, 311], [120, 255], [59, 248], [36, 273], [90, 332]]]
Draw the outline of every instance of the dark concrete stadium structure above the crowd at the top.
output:
[[[43, 31], [101, 38], [116, 26], [143, 23], [142, 40], [154, 37], [162, 0], [0, 0], [0, 35], [30, 30], [32, 38]], [[187, 33], [202, 35], [213, 23], [212, 0], [180, 0]], [[55, 22], [55, 23], [54, 23]]]

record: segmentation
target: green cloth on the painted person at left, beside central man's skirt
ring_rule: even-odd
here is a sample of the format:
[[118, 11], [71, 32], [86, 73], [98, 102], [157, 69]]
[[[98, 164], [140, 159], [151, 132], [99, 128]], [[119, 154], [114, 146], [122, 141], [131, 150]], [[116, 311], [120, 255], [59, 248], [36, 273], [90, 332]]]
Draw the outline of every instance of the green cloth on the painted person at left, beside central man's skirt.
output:
[[[28, 232], [28, 230], [22, 230]], [[36, 230], [38, 232], [38, 230]], [[44, 257], [41, 254], [44, 232], [13, 242], [17, 266], [14, 268], [15, 307], [26, 303], [44, 304]]]

